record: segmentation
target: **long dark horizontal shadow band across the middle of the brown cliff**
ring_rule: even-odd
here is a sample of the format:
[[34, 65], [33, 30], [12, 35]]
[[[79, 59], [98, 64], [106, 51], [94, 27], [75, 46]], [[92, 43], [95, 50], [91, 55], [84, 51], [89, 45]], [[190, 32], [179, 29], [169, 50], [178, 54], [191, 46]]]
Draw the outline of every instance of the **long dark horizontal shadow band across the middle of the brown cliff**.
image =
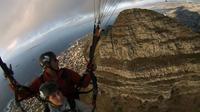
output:
[[[120, 67], [123, 67], [122, 63], [124, 63], [123, 61], [119, 61], [114, 58], [110, 58], [110, 62], [112, 63], [112, 65], [108, 65], [106, 60], [102, 60], [101, 64], [120, 68]], [[141, 72], [143, 70], [152, 70], [152, 69], [165, 68], [165, 67], [170, 67], [170, 66], [180, 66], [185, 63], [199, 64], [200, 53], [136, 58], [132, 61], [126, 61], [126, 66], [127, 66], [126, 69], [130, 71], [134, 71], [134, 72]]]

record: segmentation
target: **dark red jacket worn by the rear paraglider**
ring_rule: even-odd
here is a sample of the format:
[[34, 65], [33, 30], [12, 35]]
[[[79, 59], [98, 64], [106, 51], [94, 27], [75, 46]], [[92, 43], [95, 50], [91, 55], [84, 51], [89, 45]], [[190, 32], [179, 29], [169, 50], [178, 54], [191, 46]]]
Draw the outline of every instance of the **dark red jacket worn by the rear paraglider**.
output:
[[[61, 92], [63, 95], [67, 98], [77, 98], [76, 95], [76, 86], [80, 84], [81, 76], [67, 68], [60, 69], [57, 73], [56, 82], [60, 87]], [[53, 77], [50, 76], [47, 72], [44, 72], [44, 74], [35, 80], [32, 81], [29, 88], [33, 93], [25, 93], [20, 92], [20, 99], [26, 99], [33, 97], [34, 95], [38, 94], [40, 85], [43, 84], [46, 81], [53, 80]], [[89, 74], [86, 74], [86, 76], [83, 79], [83, 83], [81, 87], [87, 87], [90, 84], [91, 77]], [[15, 88], [12, 88], [15, 89]]]

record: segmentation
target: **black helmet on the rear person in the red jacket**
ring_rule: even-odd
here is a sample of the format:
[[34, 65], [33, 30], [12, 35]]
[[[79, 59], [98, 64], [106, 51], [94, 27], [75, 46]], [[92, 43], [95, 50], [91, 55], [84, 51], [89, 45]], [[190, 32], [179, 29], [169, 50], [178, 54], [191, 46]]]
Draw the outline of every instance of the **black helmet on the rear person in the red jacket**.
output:
[[42, 67], [46, 67], [46, 65], [49, 64], [52, 59], [56, 59], [55, 53], [53, 53], [52, 51], [45, 52], [40, 55], [40, 65]]

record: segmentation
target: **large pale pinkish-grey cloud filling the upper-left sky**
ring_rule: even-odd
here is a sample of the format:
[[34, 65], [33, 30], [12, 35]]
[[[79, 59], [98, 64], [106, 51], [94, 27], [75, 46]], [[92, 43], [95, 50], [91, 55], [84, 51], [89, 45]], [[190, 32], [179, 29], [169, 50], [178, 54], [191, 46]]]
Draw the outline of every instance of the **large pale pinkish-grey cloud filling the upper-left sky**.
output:
[[87, 13], [92, 0], [1, 0], [0, 48], [66, 18]]

